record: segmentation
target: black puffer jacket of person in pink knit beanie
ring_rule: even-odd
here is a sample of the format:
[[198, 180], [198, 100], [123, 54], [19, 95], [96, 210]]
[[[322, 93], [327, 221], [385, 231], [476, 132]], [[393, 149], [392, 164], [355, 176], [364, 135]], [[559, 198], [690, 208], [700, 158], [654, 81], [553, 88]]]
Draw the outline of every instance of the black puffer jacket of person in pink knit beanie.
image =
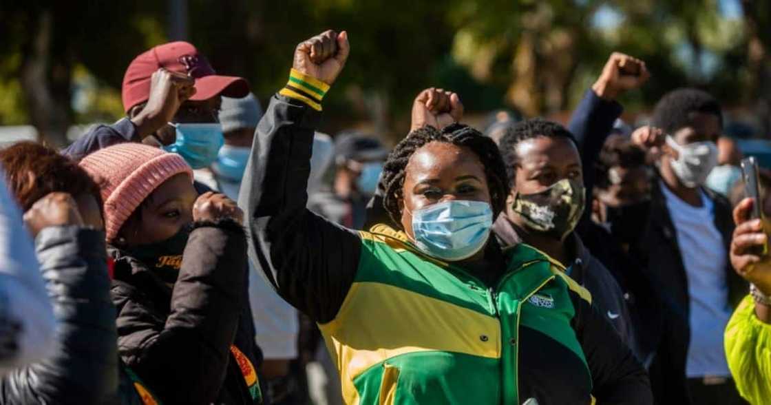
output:
[[163, 403], [254, 403], [231, 354], [259, 367], [247, 304], [246, 241], [232, 221], [197, 223], [173, 288], [116, 248], [118, 351]]

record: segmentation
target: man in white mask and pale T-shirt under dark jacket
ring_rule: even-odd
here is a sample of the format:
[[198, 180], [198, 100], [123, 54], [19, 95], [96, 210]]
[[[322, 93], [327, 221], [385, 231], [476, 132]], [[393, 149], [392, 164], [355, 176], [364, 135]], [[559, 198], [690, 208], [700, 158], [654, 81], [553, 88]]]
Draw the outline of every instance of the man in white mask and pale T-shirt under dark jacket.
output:
[[636, 143], [662, 154], [649, 219], [630, 251], [665, 306], [651, 386], [662, 403], [742, 403], [722, 331], [747, 285], [728, 261], [730, 204], [704, 187], [718, 163], [722, 111], [708, 93], [677, 89], [658, 102], [653, 124], [633, 134]]

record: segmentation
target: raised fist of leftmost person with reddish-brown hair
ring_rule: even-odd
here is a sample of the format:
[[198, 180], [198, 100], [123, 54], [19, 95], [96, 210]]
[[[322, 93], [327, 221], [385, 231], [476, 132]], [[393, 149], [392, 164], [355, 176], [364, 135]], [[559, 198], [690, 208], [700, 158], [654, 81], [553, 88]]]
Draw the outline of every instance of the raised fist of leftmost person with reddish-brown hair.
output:
[[44, 228], [63, 225], [80, 225], [83, 220], [78, 211], [78, 204], [67, 193], [46, 194], [24, 213], [24, 223], [32, 237]]

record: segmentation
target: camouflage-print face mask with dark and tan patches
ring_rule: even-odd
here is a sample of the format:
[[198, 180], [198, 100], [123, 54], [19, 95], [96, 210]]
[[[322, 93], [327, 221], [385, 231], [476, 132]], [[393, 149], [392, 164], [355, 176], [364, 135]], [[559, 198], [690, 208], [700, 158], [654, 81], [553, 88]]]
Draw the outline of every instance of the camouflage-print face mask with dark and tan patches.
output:
[[581, 181], [562, 179], [540, 193], [514, 197], [513, 211], [531, 231], [563, 241], [576, 227], [586, 202]]

